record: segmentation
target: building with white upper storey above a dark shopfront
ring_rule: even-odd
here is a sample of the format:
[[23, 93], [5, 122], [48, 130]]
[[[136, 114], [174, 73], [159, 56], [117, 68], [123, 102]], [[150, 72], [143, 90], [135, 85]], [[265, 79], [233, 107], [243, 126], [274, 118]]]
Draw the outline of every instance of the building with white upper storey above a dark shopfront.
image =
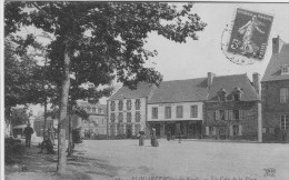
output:
[[158, 137], [201, 138], [207, 79], [163, 81], [148, 101], [147, 124]]

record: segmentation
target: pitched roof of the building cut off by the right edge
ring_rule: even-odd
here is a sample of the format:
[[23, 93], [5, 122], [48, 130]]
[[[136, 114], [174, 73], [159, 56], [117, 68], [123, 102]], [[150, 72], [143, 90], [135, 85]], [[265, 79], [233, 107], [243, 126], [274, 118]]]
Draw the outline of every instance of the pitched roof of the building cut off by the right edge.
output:
[[280, 53], [272, 54], [261, 82], [289, 79], [289, 74], [281, 74], [282, 64], [289, 64], [289, 43], [282, 46]]

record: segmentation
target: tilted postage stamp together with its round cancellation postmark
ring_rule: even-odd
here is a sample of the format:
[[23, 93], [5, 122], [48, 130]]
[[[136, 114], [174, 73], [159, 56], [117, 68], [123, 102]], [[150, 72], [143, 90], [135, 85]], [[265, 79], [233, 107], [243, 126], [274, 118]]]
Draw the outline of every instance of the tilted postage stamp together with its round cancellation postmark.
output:
[[273, 17], [237, 8], [232, 24], [222, 34], [222, 51], [232, 62], [251, 64], [262, 61]]

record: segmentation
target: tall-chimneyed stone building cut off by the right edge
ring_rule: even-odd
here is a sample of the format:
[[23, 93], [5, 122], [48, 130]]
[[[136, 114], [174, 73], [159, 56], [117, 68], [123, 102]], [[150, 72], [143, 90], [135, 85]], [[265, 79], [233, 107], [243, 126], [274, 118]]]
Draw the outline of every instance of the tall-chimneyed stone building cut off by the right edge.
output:
[[285, 141], [285, 132], [289, 136], [289, 43], [279, 37], [272, 39], [272, 57], [261, 87], [263, 141]]

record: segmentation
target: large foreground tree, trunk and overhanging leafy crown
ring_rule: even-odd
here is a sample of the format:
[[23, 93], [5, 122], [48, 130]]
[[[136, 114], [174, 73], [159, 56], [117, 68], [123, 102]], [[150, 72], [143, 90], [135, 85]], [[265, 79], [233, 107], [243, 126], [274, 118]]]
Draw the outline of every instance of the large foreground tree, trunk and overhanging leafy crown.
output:
[[[84, 96], [74, 91], [78, 84], [110, 84], [113, 78], [131, 89], [140, 81], [159, 84], [162, 76], [144, 67], [146, 60], [157, 56], [157, 51], [143, 48], [149, 33], [156, 31], [182, 43], [188, 38], [197, 40], [197, 31], [206, 27], [191, 12], [191, 3], [177, 7], [165, 2], [21, 2], [20, 6], [30, 7], [31, 11], [21, 18], [16, 16], [16, 21], [33, 24], [56, 37], [48, 66], [53, 81], [61, 86], [59, 173], [64, 173], [67, 164], [63, 122], [69, 94]], [[71, 74], [76, 78], [70, 79]], [[93, 96], [97, 99], [109, 92], [104, 89]]]

